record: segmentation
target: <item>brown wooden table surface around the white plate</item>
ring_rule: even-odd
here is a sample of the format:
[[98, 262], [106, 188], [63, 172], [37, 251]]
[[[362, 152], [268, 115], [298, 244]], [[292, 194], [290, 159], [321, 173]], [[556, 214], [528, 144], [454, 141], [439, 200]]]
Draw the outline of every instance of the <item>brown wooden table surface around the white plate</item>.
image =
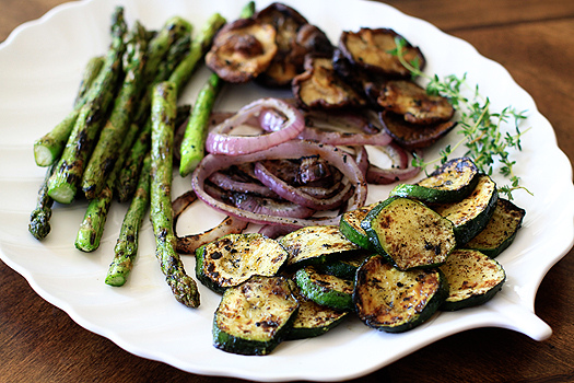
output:
[[[60, 0], [0, 0], [0, 42]], [[574, 1], [389, 0], [502, 63], [574, 159]], [[453, 53], [456, 55], [456, 53]], [[551, 163], [548, 166], [552, 166]], [[536, 313], [552, 336], [499, 328], [453, 335], [358, 382], [574, 382], [574, 252], [544, 277]], [[194, 375], [124, 351], [77, 325], [0, 262], [0, 382], [241, 382]]]

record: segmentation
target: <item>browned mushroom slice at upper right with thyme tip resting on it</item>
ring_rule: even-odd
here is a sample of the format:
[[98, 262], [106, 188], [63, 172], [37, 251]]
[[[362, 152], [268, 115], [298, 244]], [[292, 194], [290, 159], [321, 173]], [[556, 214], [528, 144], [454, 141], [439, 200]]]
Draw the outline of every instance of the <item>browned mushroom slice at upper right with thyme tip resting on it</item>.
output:
[[[389, 28], [363, 27], [359, 32], [345, 31], [339, 38], [339, 49], [353, 65], [367, 72], [388, 77], [408, 78], [410, 72], [391, 51], [397, 49], [395, 38], [402, 38]], [[418, 61], [424, 68], [421, 50], [406, 42], [403, 57], [408, 62]]]

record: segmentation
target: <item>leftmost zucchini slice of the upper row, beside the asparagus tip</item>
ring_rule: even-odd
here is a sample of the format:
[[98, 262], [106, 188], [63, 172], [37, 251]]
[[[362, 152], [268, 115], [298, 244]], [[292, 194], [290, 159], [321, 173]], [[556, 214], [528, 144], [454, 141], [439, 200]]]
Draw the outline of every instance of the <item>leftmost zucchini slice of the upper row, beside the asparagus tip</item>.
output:
[[274, 276], [289, 254], [276, 240], [258, 233], [229, 234], [196, 252], [196, 277], [215, 292], [251, 276]]

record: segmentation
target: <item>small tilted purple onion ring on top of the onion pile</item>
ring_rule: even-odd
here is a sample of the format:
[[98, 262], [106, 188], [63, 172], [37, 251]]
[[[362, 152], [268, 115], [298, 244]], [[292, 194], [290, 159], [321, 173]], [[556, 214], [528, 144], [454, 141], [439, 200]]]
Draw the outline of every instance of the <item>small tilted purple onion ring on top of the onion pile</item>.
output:
[[[231, 131], [250, 120], [254, 116], [269, 115], [273, 109], [284, 118], [267, 119], [266, 127], [272, 130], [258, 136], [234, 136]], [[260, 98], [244, 107], [235, 115], [214, 127], [206, 140], [206, 150], [212, 154], [239, 155], [269, 149], [297, 137], [305, 128], [305, 119], [294, 106], [279, 98]]]

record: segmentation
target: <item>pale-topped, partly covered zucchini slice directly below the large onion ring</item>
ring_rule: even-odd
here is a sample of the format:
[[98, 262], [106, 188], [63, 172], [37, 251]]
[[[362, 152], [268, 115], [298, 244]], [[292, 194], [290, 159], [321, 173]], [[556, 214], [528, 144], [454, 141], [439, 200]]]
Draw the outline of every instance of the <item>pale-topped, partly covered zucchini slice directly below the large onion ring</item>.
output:
[[289, 253], [289, 268], [324, 264], [361, 249], [337, 225], [301, 228], [283, 236], [280, 243]]

